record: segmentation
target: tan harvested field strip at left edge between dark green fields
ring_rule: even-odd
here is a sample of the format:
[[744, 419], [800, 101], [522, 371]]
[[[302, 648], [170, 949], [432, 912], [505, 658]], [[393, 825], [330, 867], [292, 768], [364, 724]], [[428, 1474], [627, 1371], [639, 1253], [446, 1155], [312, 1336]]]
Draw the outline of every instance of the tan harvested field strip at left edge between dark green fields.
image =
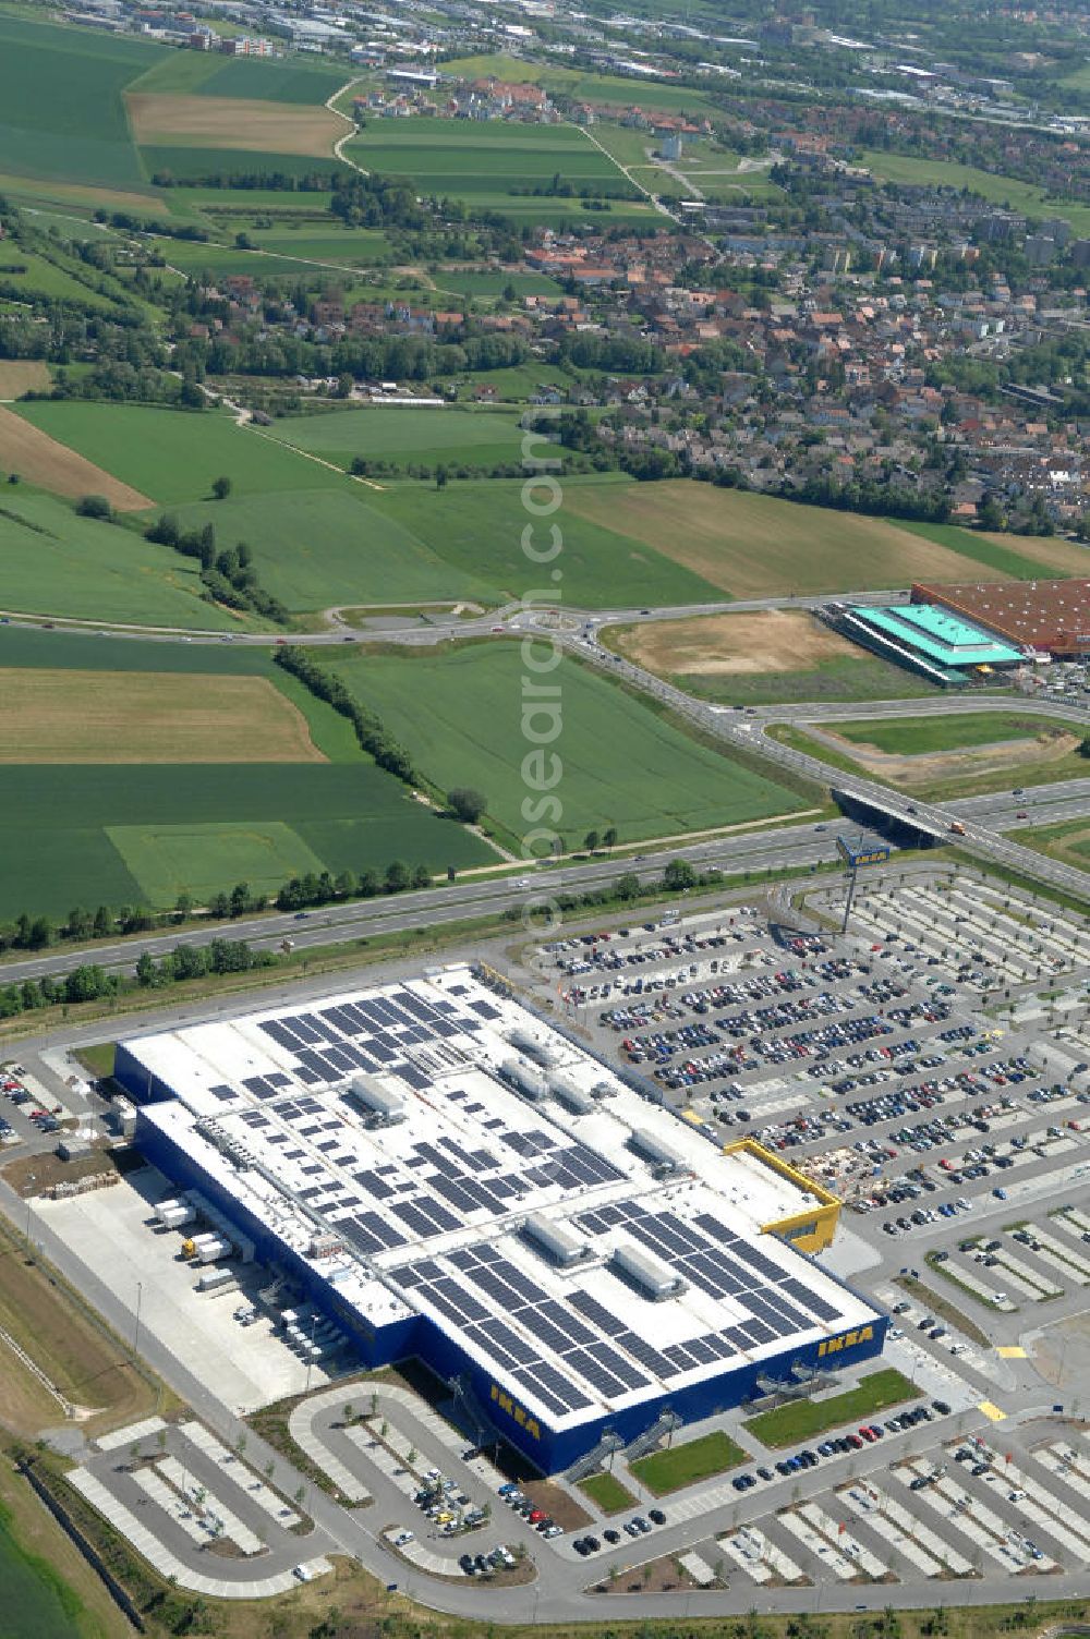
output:
[[0, 670], [0, 762], [325, 762], [266, 677]]

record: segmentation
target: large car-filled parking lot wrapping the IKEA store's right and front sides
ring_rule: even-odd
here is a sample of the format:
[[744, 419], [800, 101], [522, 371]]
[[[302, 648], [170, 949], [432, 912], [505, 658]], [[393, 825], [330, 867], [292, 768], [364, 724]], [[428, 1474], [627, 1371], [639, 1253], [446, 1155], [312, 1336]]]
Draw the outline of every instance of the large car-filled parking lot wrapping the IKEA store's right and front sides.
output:
[[[810, 901], [839, 915], [842, 885]], [[1056, 1051], [1034, 1010], [1038, 985], [1052, 987], [1052, 1015], [1085, 997], [1079, 918], [1016, 890], [951, 888], [939, 867], [861, 882], [844, 938], [752, 906], [603, 928], [543, 954], [567, 1018], [649, 1098], [710, 1142], [759, 1137], [849, 1203], [836, 1267], [895, 1311], [885, 1357], [931, 1396], [929, 1423], [887, 1414], [870, 1439], [856, 1426], [811, 1441], [787, 1472], [782, 1452], [754, 1455], [664, 1498], [665, 1550], [754, 1587], [1080, 1569], [1083, 1524], [1056, 1510], [1046, 1470], [1062, 1464], [1069, 1490], [1090, 1470], [1049, 1447], [1020, 1452], [990, 1398], [1034, 1382], [1021, 1316], [1077, 1318], [1090, 1285], [1090, 1067], [1077, 1042]], [[993, 1418], [1001, 1452], [987, 1444]], [[729, 1414], [720, 1426], [741, 1437]], [[975, 1441], [972, 1462], [957, 1455]], [[587, 1557], [647, 1560], [651, 1544], [633, 1560], [620, 1529], [598, 1521]]]

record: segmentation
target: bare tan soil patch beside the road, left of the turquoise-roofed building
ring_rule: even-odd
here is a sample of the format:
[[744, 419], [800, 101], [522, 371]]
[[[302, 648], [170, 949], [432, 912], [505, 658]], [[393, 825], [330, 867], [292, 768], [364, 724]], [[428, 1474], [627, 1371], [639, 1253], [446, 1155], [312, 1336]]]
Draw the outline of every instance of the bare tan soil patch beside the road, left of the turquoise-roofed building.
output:
[[813, 615], [767, 610], [757, 615], [698, 615], [628, 626], [616, 647], [636, 665], [659, 675], [752, 675], [805, 672], [820, 661], [856, 661], [861, 651], [847, 638], [821, 626]]

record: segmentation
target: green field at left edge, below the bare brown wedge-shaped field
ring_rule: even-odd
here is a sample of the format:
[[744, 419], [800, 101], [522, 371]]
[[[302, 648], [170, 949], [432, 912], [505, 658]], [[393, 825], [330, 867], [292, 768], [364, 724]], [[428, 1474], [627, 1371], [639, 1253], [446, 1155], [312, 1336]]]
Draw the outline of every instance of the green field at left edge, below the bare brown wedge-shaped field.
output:
[[66, 502], [23, 485], [0, 495], [0, 605], [11, 613], [210, 631], [244, 624], [200, 600], [193, 559], [77, 518]]

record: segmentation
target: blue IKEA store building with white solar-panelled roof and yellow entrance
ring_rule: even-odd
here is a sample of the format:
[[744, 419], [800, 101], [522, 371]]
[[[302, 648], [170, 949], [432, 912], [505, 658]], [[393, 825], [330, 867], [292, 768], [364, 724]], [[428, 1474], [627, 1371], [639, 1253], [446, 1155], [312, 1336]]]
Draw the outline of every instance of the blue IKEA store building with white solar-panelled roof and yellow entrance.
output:
[[810, 1255], [838, 1201], [721, 1149], [469, 967], [138, 1036], [136, 1142], [377, 1367], [418, 1355], [546, 1473], [877, 1355]]

